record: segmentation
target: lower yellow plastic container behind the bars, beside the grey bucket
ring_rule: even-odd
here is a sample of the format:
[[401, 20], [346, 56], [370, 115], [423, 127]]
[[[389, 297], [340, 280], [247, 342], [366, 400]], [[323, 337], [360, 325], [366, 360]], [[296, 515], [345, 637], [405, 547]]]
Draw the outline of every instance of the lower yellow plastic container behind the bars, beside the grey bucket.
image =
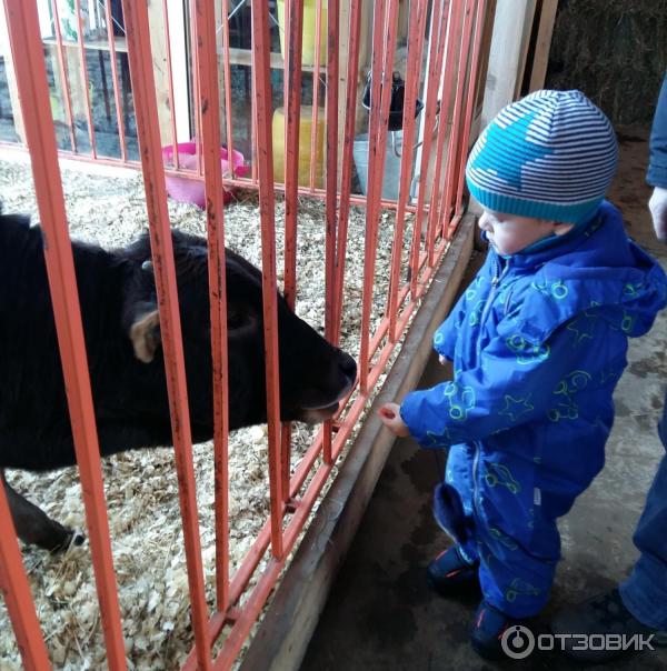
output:
[[[312, 140], [312, 107], [301, 106], [299, 123], [299, 186], [310, 186], [310, 148]], [[325, 182], [325, 108], [319, 108], [317, 117], [317, 137], [315, 141], [315, 181], [313, 187], [323, 188]], [[273, 112], [273, 179], [285, 181], [285, 110]]]

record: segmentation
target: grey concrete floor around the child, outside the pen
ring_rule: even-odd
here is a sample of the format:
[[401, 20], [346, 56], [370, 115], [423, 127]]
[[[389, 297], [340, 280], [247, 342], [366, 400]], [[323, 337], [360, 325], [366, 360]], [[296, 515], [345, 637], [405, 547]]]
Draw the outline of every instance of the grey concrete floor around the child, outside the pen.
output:
[[[644, 182], [647, 130], [624, 131], [619, 136], [621, 164], [610, 200], [624, 211], [630, 236], [667, 268], [667, 247], [654, 238], [646, 208], [650, 194]], [[470, 273], [480, 257], [472, 259]], [[445, 375], [431, 358], [420, 387]], [[547, 631], [550, 615], [559, 608], [613, 588], [637, 558], [631, 535], [664, 453], [656, 422], [666, 381], [667, 310], [649, 336], [631, 341], [629, 365], [616, 391], [617, 418], [607, 464], [560, 522], [563, 561], [551, 603], [531, 627], [535, 633]], [[434, 452], [421, 451], [410, 440], [396, 442], [301, 671], [578, 667], [556, 652], [534, 653], [524, 661], [485, 662], [468, 643], [478, 597], [445, 600], [428, 589], [425, 568], [449, 543], [430, 510], [440, 469]], [[605, 668], [667, 669], [667, 648]]]

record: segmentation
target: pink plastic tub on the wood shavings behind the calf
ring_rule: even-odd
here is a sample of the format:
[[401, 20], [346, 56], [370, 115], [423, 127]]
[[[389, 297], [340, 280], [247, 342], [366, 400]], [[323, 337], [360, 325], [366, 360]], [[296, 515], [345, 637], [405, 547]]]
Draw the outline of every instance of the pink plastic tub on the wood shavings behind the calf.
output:
[[[180, 142], [178, 148], [178, 162], [180, 168], [197, 170], [197, 143]], [[248, 167], [245, 166], [245, 158], [240, 151], [232, 151], [231, 159], [233, 162], [235, 173], [237, 177], [246, 177]], [[173, 167], [173, 147], [162, 147], [162, 161], [165, 166]], [[227, 177], [230, 173], [229, 152], [226, 147], [220, 147], [220, 163], [222, 166], [222, 176]], [[189, 179], [187, 177], [167, 176], [167, 193], [173, 200], [179, 202], [191, 202], [201, 209], [206, 207], [206, 196], [203, 181], [198, 179]], [[223, 202], [231, 200], [231, 191], [225, 190], [222, 193]]]

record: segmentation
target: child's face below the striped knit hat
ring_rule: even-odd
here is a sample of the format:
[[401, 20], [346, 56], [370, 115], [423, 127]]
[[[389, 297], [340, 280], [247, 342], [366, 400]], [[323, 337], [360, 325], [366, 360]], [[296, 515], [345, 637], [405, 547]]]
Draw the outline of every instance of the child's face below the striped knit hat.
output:
[[573, 226], [534, 217], [505, 214], [486, 208], [479, 218], [479, 228], [487, 232], [489, 242], [502, 256], [516, 254], [551, 234], [565, 236]]

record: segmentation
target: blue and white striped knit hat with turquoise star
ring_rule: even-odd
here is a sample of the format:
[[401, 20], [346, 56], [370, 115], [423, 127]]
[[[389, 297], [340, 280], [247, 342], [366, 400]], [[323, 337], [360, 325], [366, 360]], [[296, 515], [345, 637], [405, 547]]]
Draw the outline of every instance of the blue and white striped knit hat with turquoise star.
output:
[[605, 198], [616, 134], [580, 91], [536, 91], [507, 106], [477, 140], [466, 179], [487, 209], [578, 223]]

